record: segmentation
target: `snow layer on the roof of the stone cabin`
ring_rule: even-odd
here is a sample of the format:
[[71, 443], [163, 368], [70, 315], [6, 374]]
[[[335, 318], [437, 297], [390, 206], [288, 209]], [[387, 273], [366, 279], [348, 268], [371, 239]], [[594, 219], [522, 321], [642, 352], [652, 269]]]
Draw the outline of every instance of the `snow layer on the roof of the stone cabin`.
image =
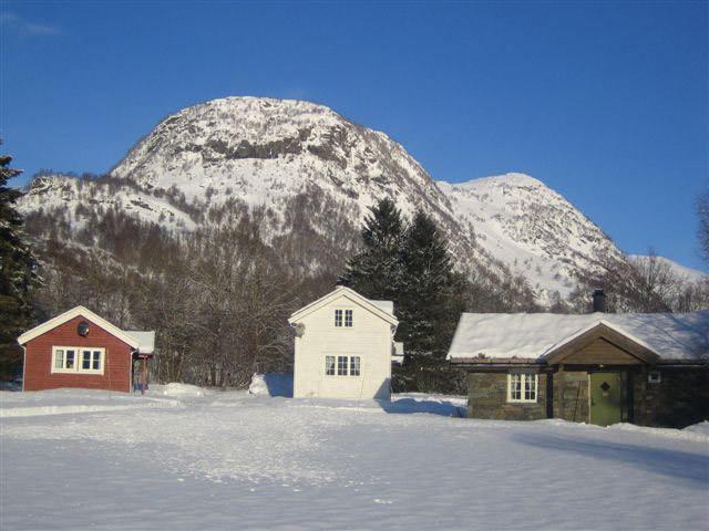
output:
[[692, 313], [463, 313], [448, 360], [536, 360], [596, 324], [606, 324], [664, 360], [709, 358], [709, 311]]

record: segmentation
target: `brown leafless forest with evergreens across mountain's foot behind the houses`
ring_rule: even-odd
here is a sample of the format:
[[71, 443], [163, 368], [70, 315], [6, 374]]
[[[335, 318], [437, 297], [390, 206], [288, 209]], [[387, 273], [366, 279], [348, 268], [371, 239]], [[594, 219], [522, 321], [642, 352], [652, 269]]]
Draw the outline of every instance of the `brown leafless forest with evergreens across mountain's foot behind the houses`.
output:
[[[84, 186], [97, 179], [111, 185], [113, 178], [83, 177]], [[76, 212], [66, 207], [30, 212], [23, 241], [37, 256], [38, 282], [28, 288], [28, 326], [82, 304], [122, 329], [156, 331], [157, 381], [245, 387], [255, 372], [291, 369], [287, 317], [340, 279], [366, 296], [395, 302], [402, 321], [397, 339], [413, 354], [397, 375], [398, 389], [455, 392], [460, 378], [443, 360], [462, 311], [585, 313], [597, 288], [606, 291], [609, 311], [709, 308], [709, 278], [685, 281], [653, 254], [645, 262], [623, 264], [598, 257], [597, 274], [582, 279], [568, 300], [558, 298], [541, 308], [522, 277], [453, 266], [448, 241], [432, 218], [418, 212], [407, 219], [387, 200], [372, 207], [358, 235], [346, 210], [318, 204], [317, 194], [304, 194], [286, 210], [289, 232], [269, 239], [261, 233], [270, 216], [267, 208], [249, 208], [236, 199], [210, 208], [188, 204], [176, 191], [173, 196], [171, 201], [184, 211], [214, 222], [176, 231], [114, 208], [86, 209], [81, 223], [70, 222]], [[373, 236], [382, 208], [399, 217], [394, 243]], [[311, 225], [311, 212], [328, 219], [325, 232]], [[417, 238], [418, 247], [412, 243]], [[427, 246], [441, 264], [436, 278], [422, 266]], [[351, 275], [354, 266], [357, 281]], [[370, 285], [372, 279], [379, 284]], [[7, 367], [17, 366], [18, 348], [6, 345], [4, 351], [7, 375]]]

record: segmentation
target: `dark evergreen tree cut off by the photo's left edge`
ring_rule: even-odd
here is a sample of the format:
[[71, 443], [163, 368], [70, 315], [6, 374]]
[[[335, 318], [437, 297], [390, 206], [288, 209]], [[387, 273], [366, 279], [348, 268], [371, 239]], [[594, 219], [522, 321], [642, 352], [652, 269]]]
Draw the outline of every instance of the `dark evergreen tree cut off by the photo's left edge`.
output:
[[21, 363], [17, 337], [31, 323], [29, 292], [37, 263], [14, 208], [21, 192], [8, 187], [8, 180], [21, 173], [10, 168], [11, 162], [9, 155], [0, 155], [0, 373], [4, 376]]

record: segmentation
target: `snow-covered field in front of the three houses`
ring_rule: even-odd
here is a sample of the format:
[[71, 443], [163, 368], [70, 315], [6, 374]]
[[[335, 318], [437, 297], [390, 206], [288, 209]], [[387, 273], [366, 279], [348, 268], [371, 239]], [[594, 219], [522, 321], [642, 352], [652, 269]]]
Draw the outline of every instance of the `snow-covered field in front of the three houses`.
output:
[[172, 386], [0, 392], [2, 530], [708, 529], [709, 429]]

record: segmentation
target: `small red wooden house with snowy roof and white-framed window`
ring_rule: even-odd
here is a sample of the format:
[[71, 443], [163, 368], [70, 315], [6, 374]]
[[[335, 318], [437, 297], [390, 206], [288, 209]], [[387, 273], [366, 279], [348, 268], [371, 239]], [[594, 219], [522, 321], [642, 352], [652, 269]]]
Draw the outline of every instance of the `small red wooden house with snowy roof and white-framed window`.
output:
[[155, 332], [126, 331], [76, 306], [18, 337], [23, 391], [80, 387], [131, 392], [134, 362], [153, 357]]

